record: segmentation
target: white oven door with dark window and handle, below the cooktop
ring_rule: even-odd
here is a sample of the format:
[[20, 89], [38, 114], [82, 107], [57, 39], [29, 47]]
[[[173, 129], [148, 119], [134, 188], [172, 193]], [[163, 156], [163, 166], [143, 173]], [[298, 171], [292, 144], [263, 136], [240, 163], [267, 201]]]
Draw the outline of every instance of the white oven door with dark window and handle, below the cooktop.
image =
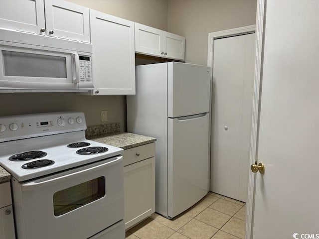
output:
[[18, 239], [87, 239], [124, 218], [121, 155], [12, 189]]

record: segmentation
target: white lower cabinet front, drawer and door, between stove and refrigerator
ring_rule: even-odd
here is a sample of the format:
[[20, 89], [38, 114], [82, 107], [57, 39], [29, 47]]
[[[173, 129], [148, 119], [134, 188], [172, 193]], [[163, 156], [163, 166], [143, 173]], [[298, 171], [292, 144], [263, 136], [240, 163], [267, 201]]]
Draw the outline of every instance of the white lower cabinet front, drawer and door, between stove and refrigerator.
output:
[[125, 229], [155, 212], [155, 143], [124, 150]]

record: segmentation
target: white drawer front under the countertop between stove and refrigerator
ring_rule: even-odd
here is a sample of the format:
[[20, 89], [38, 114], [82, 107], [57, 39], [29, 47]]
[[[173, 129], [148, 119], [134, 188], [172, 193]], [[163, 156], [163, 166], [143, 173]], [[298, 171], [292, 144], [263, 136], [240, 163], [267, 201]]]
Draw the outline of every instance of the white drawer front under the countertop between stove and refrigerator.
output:
[[148, 143], [124, 150], [124, 166], [155, 156], [155, 143]]

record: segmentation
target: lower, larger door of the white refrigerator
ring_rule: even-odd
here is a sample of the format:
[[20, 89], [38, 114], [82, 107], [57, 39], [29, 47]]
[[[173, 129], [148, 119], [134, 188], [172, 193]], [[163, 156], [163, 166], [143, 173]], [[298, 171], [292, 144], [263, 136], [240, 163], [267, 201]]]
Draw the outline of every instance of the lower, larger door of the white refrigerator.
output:
[[168, 119], [168, 217], [208, 192], [209, 114]]

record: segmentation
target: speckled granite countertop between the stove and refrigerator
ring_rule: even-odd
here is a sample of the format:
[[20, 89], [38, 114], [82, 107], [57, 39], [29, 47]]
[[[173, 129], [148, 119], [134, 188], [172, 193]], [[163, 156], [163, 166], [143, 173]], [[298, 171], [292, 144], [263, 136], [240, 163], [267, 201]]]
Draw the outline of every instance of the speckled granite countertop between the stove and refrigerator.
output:
[[127, 132], [94, 135], [88, 137], [88, 139], [123, 149], [129, 149], [156, 141], [156, 138], [153, 137]]

